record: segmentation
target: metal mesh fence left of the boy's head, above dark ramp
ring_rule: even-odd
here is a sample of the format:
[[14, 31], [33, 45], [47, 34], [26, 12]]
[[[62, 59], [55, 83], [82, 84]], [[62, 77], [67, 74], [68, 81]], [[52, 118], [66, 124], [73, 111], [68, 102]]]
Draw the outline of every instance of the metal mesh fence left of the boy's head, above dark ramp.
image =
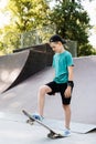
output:
[[21, 34], [21, 48], [28, 48], [41, 43], [46, 43], [52, 34], [56, 31], [55, 25], [43, 27], [42, 29], [32, 30]]

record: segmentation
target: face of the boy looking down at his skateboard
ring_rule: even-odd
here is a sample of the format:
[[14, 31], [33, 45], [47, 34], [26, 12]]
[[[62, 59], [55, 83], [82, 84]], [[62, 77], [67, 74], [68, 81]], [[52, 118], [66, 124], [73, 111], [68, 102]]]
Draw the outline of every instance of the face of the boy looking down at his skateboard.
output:
[[61, 49], [62, 49], [61, 42], [51, 42], [50, 45], [54, 52], [61, 53]]

